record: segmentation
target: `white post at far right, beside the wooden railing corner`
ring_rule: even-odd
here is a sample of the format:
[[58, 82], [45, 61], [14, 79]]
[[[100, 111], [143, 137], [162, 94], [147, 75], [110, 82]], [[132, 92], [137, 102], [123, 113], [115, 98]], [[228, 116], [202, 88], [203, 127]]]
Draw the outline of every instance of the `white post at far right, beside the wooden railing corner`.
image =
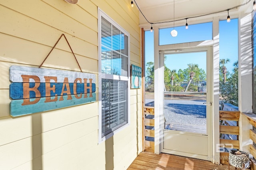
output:
[[[252, 14], [240, 17], [238, 32], [238, 108], [243, 113], [252, 113]], [[250, 152], [249, 130], [252, 125], [241, 115], [239, 119], [240, 150]]]

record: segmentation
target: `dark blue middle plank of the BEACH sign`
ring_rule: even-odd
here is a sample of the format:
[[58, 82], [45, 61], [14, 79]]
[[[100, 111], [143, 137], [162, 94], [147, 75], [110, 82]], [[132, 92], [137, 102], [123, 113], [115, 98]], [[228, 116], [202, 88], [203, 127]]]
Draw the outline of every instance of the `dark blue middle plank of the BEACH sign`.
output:
[[[84, 94], [90, 93], [90, 89], [86, 89], [84, 92], [84, 83], [68, 83], [70, 87], [70, 94]], [[74, 84], [76, 84], [76, 91], [74, 91]], [[29, 87], [34, 87], [35, 83], [29, 83]], [[90, 83], [86, 83], [87, 87], [90, 87]], [[50, 96], [60, 96], [62, 92], [63, 83], [50, 83], [50, 87], [55, 87], [55, 93], [51, 90]], [[40, 83], [39, 87], [37, 88], [40, 91], [41, 97], [46, 97], [46, 83]], [[66, 91], [66, 85], [64, 86], [64, 91]], [[96, 84], [92, 83], [92, 93], [96, 91]], [[29, 92], [29, 97], [27, 98], [35, 98], [36, 94], [34, 91]], [[63, 93], [63, 95], [68, 95], [67, 93]], [[23, 97], [23, 83], [11, 83], [10, 84], [10, 97], [12, 99], [24, 99]]]

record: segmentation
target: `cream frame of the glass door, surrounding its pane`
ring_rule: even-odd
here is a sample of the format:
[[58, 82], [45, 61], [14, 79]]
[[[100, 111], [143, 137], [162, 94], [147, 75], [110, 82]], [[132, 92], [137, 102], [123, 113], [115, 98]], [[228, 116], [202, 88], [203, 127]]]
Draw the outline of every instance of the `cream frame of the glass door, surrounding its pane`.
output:
[[[193, 53], [193, 52], [200, 52], [200, 51], [207, 51], [206, 53], [206, 73], [207, 73], [207, 102], [213, 102], [213, 95], [212, 95], [212, 46], [201, 46], [201, 47], [191, 47], [191, 48], [178, 48], [178, 49], [164, 49], [159, 50], [159, 66], [160, 68], [164, 67], [164, 55], [166, 54], [176, 54], [176, 53]], [[164, 75], [164, 70], [161, 69], [162, 74], [160, 72], [160, 75]], [[164, 86], [164, 77], [160, 76], [160, 87]], [[161, 82], [162, 81], [162, 82]], [[159, 90], [161, 93], [161, 91]], [[164, 93], [164, 91], [162, 91]], [[160, 103], [164, 103], [164, 96], [162, 95], [162, 98], [160, 98]], [[159, 108], [160, 114], [160, 152], [169, 153], [169, 154], [176, 154], [180, 156], [186, 156], [186, 157], [193, 157], [198, 158], [202, 160], [209, 160], [212, 161], [212, 113], [213, 113], [213, 107], [210, 105], [206, 105], [206, 113], [207, 113], [207, 135], [205, 134], [193, 134], [189, 132], [179, 132], [179, 131], [170, 131], [170, 130], [164, 130], [164, 105], [162, 104], [162, 107]], [[164, 149], [164, 136], [172, 135], [172, 136], [180, 136], [182, 134], [183, 137], [187, 136], [190, 138], [190, 140], [197, 141], [196, 138], [202, 138], [205, 144], [205, 148], [207, 148], [207, 155], [202, 154], [195, 154], [195, 153], [188, 153], [185, 151], [177, 151], [177, 150], [168, 150]], [[206, 143], [205, 143], [206, 142]]]

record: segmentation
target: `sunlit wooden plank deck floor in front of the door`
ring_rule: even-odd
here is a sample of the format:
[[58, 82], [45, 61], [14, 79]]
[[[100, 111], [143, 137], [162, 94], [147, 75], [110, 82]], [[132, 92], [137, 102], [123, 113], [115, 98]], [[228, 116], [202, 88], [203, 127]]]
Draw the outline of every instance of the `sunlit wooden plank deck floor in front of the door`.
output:
[[[235, 169], [230, 166], [230, 169]], [[228, 170], [228, 165], [214, 165], [210, 161], [171, 154], [142, 152], [128, 170]]]

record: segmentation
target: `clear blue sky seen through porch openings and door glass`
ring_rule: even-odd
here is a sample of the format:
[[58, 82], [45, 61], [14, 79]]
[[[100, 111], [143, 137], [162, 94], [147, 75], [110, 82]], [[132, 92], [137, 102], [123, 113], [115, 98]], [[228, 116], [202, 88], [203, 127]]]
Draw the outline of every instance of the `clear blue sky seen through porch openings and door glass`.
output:
[[[160, 30], [160, 45], [212, 39], [212, 23], [189, 25], [188, 27], [188, 30], [185, 29], [185, 26], [175, 27], [175, 30], [178, 31], [177, 37], [170, 35], [170, 31], [173, 28]], [[226, 20], [220, 21], [219, 29], [220, 59], [230, 59], [226, 67], [232, 73], [233, 63], [238, 60], [238, 19], [232, 19], [229, 23]], [[154, 62], [154, 33], [146, 31], [145, 38], [145, 62]], [[194, 58], [198, 57], [196, 63], [199, 65], [199, 68], [205, 69], [205, 53], [190, 53], [189, 55], [190, 57], [183, 54], [168, 56], [165, 62], [166, 66], [171, 70], [176, 69], [177, 71], [180, 68], [186, 69], [187, 64], [195, 61]], [[186, 62], [184, 63], [184, 61]]]

